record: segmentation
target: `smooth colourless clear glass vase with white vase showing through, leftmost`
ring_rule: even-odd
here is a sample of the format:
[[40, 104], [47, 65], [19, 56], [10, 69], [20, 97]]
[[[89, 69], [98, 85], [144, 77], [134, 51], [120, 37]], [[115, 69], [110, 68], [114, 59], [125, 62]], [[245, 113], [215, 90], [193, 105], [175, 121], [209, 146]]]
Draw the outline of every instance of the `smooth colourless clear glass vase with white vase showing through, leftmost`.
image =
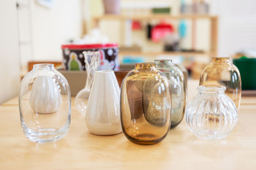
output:
[[20, 84], [20, 123], [24, 134], [36, 143], [52, 143], [67, 134], [71, 97], [65, 77], [53, 64], [33, 66]]

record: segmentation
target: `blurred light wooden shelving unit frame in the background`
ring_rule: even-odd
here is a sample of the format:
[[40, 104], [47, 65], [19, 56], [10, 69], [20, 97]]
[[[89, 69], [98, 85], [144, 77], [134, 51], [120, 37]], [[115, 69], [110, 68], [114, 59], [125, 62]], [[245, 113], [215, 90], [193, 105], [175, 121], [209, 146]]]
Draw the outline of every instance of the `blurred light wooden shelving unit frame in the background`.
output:
[[[209, 52], [132, 52], [132, 51], [120, 51], [120, 56], [157, 56], [157, 55], [172, 55], [172, 56], [216, 56], [217, 55], [217, 42], [218, 42], [218, 17], [212, 15], [102, 15], [93, 18], [95, 26], [99, 25], [100, 20], [198, 20], [207, 19], [211, 22], [210, 31], [210, 50]], [[193, 29], [193, 28], [192, 28]], [[195, 42], [195, 38], [192, 36], [192, 42]]]

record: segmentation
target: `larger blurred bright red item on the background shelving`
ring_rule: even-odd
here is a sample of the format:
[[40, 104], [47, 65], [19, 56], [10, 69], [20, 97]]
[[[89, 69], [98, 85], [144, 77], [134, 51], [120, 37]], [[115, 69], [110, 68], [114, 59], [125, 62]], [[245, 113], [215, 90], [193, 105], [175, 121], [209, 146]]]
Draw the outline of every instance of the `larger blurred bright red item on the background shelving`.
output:
[[173, 33], [174, 28], [171, 24], [157, 24], [151, 31], [151, 39], [153, 42], [159, 42], [161, 38], [164, 38], [168, 33]]

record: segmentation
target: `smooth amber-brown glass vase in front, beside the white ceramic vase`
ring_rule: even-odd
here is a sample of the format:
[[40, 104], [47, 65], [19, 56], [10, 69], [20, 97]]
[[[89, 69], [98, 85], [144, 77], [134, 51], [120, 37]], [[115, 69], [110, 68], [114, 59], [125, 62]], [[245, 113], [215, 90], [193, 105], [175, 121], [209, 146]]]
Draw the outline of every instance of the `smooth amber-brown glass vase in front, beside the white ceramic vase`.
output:
[[171, 93], [166, 76], [154, 63], [138, 63], [121, 87], [121, 123], [136, 144], [161, 142], [170, 128]]

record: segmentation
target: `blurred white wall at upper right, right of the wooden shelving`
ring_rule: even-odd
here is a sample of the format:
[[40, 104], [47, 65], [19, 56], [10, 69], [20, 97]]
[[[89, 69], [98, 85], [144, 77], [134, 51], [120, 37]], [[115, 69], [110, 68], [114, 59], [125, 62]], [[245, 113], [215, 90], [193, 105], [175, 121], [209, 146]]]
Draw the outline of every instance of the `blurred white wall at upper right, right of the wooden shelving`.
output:
[[238, 50], [256, 49], [256, 1], [212, 0], [212, 14], [219, 16], [219, 56]]

